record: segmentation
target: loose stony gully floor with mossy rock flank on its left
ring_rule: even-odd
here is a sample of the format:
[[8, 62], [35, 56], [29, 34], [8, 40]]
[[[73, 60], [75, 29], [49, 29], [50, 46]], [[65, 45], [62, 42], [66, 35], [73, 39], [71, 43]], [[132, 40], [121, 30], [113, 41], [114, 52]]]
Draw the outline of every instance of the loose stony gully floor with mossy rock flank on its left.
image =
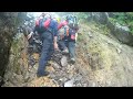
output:
[[[39, 53], [28, 53], [28, 41], [22, 35], [18, 41], [13, 41], [9, 64], [4, 73], [4, 85], [2, 87], [86, 87], [88, 80], [78, 72], [76, 66], [68, 64], [64, 55], [60, 63], [60, 53], [54, 53], [57, 57], [47, 66], [50, 73], [47, 77], [37, 77], [39, 66]], [[52, 57], [53, 58], [53, 57]], [[57, 62], [58, 63], [57, 63]], [[73, 80], [72, 82], [70, 80]], [[69, 84], [68, 84], [69, 82]]]

